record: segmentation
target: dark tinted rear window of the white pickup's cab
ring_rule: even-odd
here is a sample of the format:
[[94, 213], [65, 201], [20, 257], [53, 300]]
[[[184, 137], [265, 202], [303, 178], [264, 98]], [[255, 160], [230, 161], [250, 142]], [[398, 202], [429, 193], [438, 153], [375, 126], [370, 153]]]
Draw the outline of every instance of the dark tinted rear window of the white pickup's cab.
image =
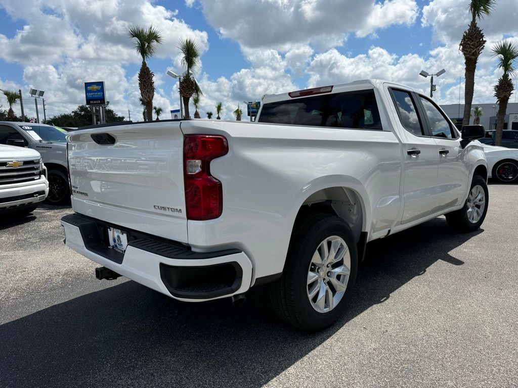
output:
[[269, 102], [263, 106], [258, 122], [383, 129], [372, 89]]

